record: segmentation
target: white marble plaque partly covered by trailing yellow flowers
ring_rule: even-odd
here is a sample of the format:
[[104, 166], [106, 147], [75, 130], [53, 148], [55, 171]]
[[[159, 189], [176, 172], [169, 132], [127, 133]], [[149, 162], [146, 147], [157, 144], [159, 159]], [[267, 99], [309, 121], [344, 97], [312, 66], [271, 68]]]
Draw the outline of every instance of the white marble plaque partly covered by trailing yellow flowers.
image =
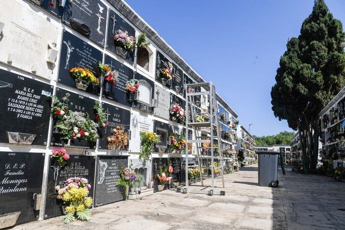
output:
[[142, 116], [139, 112], [130, 113], [130, 140], [129, 151], [140, 152], [140, 131], [153, 131], [153, 120]]

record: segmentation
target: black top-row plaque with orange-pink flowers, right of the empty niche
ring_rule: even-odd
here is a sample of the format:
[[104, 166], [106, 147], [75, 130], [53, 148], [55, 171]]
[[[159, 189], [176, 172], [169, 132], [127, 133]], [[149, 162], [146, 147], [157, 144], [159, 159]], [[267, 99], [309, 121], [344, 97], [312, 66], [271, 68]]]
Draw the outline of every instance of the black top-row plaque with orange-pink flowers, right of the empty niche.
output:
[[157, 50], [154, 77], [155, 80], [170, 88], [173, 72], [174, 68], [171, 61]]

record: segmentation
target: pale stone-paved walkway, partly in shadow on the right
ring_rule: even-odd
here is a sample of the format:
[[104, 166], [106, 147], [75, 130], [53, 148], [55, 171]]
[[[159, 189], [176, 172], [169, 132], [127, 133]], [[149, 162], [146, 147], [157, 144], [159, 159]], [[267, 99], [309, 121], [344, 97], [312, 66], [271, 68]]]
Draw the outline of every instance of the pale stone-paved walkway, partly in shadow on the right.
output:
[[[218, 179], [218, 184], [220, 184]], [[309, 182], [311, 181], [311, 182]], [[92, 208], [68, 229], [345, 229], [345, 183], [287, 170], [279, 187], [257, 185], [257, 165], [225, 175], [225, 196], [164, 190]], [[61, 216], [13, 229], [65, 229]]]

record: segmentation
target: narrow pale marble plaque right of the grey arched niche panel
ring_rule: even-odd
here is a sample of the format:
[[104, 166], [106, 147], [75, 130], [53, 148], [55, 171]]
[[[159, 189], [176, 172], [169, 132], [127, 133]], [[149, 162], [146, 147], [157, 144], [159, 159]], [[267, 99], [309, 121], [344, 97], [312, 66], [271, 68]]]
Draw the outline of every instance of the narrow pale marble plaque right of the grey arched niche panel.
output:
[[154, 98], [157, 100], [157, 107], [153, 109], [154, 115], [169, 119], [170, 92], [155, 84]]

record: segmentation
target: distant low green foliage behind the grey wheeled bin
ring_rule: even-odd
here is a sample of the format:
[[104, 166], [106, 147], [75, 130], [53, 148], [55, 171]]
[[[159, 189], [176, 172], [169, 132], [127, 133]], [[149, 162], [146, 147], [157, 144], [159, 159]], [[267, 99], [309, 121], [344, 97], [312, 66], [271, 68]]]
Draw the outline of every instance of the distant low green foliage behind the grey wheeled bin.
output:
[[275, 135], [253, 136], [256, 145], [290, 144], [294, 132], [283, 131]]

